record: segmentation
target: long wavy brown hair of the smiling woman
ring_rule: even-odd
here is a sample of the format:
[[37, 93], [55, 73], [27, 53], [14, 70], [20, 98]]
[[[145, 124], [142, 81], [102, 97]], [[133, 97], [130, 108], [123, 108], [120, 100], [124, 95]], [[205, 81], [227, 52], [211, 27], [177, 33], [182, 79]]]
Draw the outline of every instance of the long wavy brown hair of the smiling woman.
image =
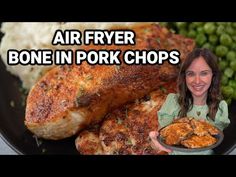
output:
[[187, 112], [193, 108], [193, 97], [186, 84], [185, 72], [191, 63], [199, 57], [202, 57], [206, 61], [213, 73], [211, 85], [207, 94], [207, 105], [209, 108], [208, 116], [214, 120], [219, 103], [222, 99], [220, 93], [220, 70], [217, 65], [217, 57], [210, 50], [201, 48], [196, 48], [189, 53], [180, 68], [178, 77], [178, 103], [180, 105], [179, 117], [187, 116]]

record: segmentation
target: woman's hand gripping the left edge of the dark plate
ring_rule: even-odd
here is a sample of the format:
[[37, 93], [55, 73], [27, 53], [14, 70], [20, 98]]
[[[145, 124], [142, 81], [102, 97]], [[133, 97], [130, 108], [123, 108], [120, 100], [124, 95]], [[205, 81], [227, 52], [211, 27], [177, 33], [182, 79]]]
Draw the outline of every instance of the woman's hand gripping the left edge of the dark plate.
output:
[[153, 149], [157, 150], [158, 153], [161, 151], [164, 152], [168, 152], [171, 153], [172, 150], [165, 148], [164, 146], [162, 146], [158, 141], [157, 141], [157, 137], [159, 136], [159, 132], [158, 131], [151, 131], [149, 133], [149, 137], [151, 138], [151, 146]]

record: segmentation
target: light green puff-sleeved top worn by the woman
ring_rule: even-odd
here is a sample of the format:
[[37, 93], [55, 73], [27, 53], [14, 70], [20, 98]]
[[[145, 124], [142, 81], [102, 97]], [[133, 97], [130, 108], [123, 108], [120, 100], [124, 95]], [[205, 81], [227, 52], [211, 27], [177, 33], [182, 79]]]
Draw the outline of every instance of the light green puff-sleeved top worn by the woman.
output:
[[[165, 103], [162, 105], [161, 109], [158, 111], [159, 128], [162, 128], [171, 124], [174, 118], [178, 117], [180, 106], [178, 104], [177, 99], [178, 99], [177, 94], [170, 93], [167, 96]], [[228, 118], [228, 105], [224, 100], [222, 100], [219, 104], [219, 109], [216, 113], [214, 121], [207, 116], [207, 113], [208, 113], [207, 105], [203, 105], [203, 106], [193, 105], [193, 108], [187, 113], [187, 116], [194, 117], [195, 119], [206, 119], [206, 121], [218, 127], [222, 131], [230, 123], [230, 120]], [[213, 151], [206, 150], [206, 151], [194, 152], [194, 153], [173, 151], [171, 154], [201, 155], [201, 154], [213, 154]]]

